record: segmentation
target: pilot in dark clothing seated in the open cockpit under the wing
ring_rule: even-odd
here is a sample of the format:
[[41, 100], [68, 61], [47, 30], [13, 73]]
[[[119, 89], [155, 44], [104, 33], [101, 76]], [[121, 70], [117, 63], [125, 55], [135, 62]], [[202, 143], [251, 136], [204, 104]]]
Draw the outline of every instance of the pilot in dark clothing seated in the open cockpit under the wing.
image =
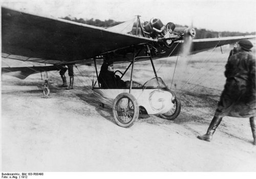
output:
[[118, 88], [126, 86], [126, 82], [121, 80], [118, 75], [115, 75], [113, 61], [111, 60], [104, 60], [100, 69], [98, 81], [100, 86], [103, 88]]

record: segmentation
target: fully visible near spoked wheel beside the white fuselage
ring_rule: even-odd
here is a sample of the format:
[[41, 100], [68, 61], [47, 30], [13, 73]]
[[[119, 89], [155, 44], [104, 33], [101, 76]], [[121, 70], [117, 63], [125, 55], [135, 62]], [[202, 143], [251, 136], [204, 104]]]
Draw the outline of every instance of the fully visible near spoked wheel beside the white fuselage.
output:
[[133, 95], [121, 93], [113, 102], [112, 113], [117, 125], [131, 127], [139, 117], [138, 102]]

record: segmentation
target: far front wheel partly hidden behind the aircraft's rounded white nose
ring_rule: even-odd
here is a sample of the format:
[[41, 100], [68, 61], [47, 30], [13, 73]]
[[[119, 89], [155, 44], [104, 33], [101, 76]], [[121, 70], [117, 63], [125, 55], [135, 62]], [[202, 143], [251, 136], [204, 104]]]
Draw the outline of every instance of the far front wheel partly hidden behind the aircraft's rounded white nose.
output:
[[159, 115], [160, 118], [167, 119], [167, 120], [174, 120], [179, 116], [180, 110], [181, 110], [180, 99], [174, 92], [172, 92], [172, 94], [175, 96], [174, 107], [170, 109], [167, 113]]

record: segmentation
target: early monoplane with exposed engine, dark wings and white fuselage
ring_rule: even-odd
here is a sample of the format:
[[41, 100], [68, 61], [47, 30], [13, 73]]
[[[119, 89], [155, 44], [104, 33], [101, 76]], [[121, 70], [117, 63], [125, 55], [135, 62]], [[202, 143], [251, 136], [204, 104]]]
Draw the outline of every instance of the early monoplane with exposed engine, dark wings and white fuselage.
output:
[[[177, 31], [175, 24], [164, 25], [158, 18], [141, 21], [137, 16], [132, 23], [128, 21], [105, 29], [2, 7], [2, 57], [50, 64], [33, 68], [2, 67], [2, 73], [19, 72], [26, 78], [32, 73], [57, 70], [59, 65], [94, 63], [98, 77], [98, 62], [130, 63], [124, 72], [115, 72], [121, 73], [122, 79], [131, 68], [129, 85], [106, 88], [96, 81], [92, 86], [102, 104], [112, 107], [116, 123], [130, 127], [139, 113], [173, 120], [180, 113], [180, 100], [157, 76], [154, 59], [179, 55], [180, 49], [189, 43], [193, 43], [187, 47], [189, 54], [196, 54], [241, 39], [255, 38], [192, 39], [195, 35], [193, 28]], [[144, 84], [133, 80], [134, 65], [142, 60], [151, 61], [155, 74]], [[46, 80], [44, 93], [48, 95], [49, 91]]]

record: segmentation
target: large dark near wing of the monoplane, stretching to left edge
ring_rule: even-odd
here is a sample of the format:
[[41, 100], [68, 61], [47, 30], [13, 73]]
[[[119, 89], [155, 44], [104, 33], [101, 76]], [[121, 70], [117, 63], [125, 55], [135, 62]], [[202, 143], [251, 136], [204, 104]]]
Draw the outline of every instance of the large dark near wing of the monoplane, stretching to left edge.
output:
[[[2, 53], [58, 64], [155, 40], [2, 7]], [[27, 57], [27, 58], [25, 58]]]

